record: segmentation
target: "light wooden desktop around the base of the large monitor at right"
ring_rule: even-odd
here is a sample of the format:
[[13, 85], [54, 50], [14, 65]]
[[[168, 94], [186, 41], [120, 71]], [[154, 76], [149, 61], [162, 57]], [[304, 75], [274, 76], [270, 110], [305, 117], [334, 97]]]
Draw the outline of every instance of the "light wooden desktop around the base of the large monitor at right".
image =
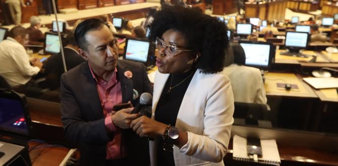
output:
[[[303, 57], [294, 57], [294, 56], [287, 56], [287, 55], [280, 55], [280, 52], [285, 52], [286, 50], [276, 50], [274, 63], [286, 63], [286, 64], [300, 64], [300, 62], [309, 62], [313, 57], [309, 56], [307, 58]], [[316, 62], [330, 62], [325, 59], [321, 54], [316, 53], [314, 51], [305, 50], [302, 53], [308, 55], [317, 55]]]

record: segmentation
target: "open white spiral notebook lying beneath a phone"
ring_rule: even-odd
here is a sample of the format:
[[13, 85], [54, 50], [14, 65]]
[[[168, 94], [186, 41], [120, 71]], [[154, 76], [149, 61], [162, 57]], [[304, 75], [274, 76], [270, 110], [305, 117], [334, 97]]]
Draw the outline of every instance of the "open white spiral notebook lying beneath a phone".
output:
[[[240, 161], [253, 161], [248, 156], [247, 139], [235, 135], [233, 138], [233, 158]], [[280, 165], [280, 157], [278, 153], [277, 143], [275, 140], [260, 140], [262, 146], [262, 157], [258, 157], [259, 163]]]

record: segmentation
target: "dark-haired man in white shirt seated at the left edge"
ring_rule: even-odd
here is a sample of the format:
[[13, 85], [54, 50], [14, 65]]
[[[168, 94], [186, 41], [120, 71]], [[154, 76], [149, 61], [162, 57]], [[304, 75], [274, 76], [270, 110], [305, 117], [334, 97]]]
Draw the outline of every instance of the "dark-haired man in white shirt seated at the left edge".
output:
[[9, 37], [0, 43], [0, 75], [11, 88], [25, 85], [42, 67], [38, 59], [29, 60], [24, 47], [28, 39], [28, 31], [21, 26], [16, 26], [11, 29]]

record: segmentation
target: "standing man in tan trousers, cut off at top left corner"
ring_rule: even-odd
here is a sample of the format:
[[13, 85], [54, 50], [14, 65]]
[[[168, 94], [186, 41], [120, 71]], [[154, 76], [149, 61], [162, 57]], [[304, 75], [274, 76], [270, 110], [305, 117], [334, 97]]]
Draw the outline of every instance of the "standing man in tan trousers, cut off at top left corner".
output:
[[26, 8], [26, 5], [23, 0], [6, 0], [6, 4], [8, 4], [8, 8], [11, 13], [11, 17], [13, 20], [13, 23], [15, 25], [20, 25], [21, 24], [21, 6]]

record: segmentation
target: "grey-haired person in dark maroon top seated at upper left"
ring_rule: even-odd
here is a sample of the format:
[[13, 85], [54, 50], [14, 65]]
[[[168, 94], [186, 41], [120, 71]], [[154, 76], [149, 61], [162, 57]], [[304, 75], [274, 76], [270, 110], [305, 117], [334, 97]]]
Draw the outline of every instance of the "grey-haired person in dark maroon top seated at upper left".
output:
[[28, 35], [29, 35], [29, 42], [28, 44], [31, 45], [43, 45], [44, 35], [40, 31], [41, 27], [41, 19], [37, 16], [32, 16], [29, 19], [30, 27], [27, 28]]

